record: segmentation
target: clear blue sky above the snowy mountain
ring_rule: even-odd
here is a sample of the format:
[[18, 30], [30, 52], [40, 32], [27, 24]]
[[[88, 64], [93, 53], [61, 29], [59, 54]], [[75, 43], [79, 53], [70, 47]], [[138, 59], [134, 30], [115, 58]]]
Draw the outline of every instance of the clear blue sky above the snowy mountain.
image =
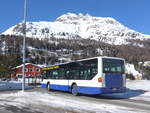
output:
[[[27, 21], [53, 21], [68, 12], [113, 17], [150, 35], [150, 0], [27, 0]], [[24, 0], [0, 0], [0, 32], [23, 20]]]

